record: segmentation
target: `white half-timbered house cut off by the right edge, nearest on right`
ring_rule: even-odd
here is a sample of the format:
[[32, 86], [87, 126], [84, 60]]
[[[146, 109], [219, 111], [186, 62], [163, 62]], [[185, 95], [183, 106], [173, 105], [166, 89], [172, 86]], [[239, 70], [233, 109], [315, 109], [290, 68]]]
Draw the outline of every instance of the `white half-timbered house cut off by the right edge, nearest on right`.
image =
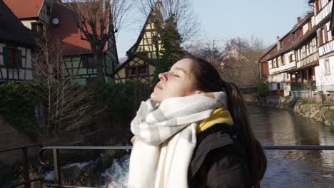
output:
[[333, 31], [331, 32], [333, 24], [330, 24], [333, 19], [333, 1], [310, 0], [309, 3], [314, 5], [318, 36], [319, 66], [315, 67], [316, 86], [318, 91], [327, 93], [334, 90], [334, 38]]

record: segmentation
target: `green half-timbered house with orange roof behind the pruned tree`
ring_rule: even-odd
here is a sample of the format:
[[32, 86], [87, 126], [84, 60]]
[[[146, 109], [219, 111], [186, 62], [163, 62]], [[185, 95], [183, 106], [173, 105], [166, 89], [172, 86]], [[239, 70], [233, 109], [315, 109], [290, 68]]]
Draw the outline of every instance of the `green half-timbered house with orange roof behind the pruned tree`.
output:
[[[55, 5], [50, 16], [49, 30], [51, 38], [61, 41], [64, 56], [64, 75], [81, 85], [96, 80], [96, 61], [88, 41], [81, 39], [81, 31], [74, 22], [73, 14], [64, 6]], [[108, 26], [113, 31], [113, 26]], [[103, 74], [106, 83], [111, 82], [111, 73], [118, 66], [114, 32], [103, 49]]]

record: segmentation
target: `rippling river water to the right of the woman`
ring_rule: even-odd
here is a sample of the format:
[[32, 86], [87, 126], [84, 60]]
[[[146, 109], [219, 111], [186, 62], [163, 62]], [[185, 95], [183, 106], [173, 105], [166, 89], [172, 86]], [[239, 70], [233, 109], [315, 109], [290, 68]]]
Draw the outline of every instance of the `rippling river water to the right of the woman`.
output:
[[[288, 110], [248, 105], [263, 145], [334, 145], [334, 130]], [[263, 187], [334, 187], [334, 151], [266, 150]]]

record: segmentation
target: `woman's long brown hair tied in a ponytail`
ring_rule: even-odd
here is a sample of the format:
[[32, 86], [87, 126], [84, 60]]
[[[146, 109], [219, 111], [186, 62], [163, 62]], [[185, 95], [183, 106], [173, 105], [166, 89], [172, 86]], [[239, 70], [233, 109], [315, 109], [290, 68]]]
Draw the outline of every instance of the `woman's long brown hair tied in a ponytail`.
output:
[[225, 91], [228, 98], [228, 110], [233, 117], [233, 122], [246, 135], [248, 144], [246, 145], [246, 153], [248, 155], [248, 165], [251, 169], [251, 181], [253, 187], [260, 187], [260, 181], [263, 179], [267, 168], [267, 159], [263, 152], [260, 142], [256, 139], [251, 122], [247, 112], [246, 104], [243, 100], [238, 87], [231, 82], [221, 79], [216, 68], [207, 61], [196, 58], [190, 58], [193, 63], [191, 71], [193, 72], [196, 89], [204, 92]]

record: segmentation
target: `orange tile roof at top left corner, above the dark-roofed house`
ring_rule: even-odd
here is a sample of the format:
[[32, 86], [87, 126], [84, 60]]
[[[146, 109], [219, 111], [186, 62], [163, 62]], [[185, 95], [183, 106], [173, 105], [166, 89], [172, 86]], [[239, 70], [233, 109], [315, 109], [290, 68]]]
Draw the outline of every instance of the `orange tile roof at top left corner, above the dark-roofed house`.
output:
[[37, 17], [44, 0], [4, 0], [19, 19]]

